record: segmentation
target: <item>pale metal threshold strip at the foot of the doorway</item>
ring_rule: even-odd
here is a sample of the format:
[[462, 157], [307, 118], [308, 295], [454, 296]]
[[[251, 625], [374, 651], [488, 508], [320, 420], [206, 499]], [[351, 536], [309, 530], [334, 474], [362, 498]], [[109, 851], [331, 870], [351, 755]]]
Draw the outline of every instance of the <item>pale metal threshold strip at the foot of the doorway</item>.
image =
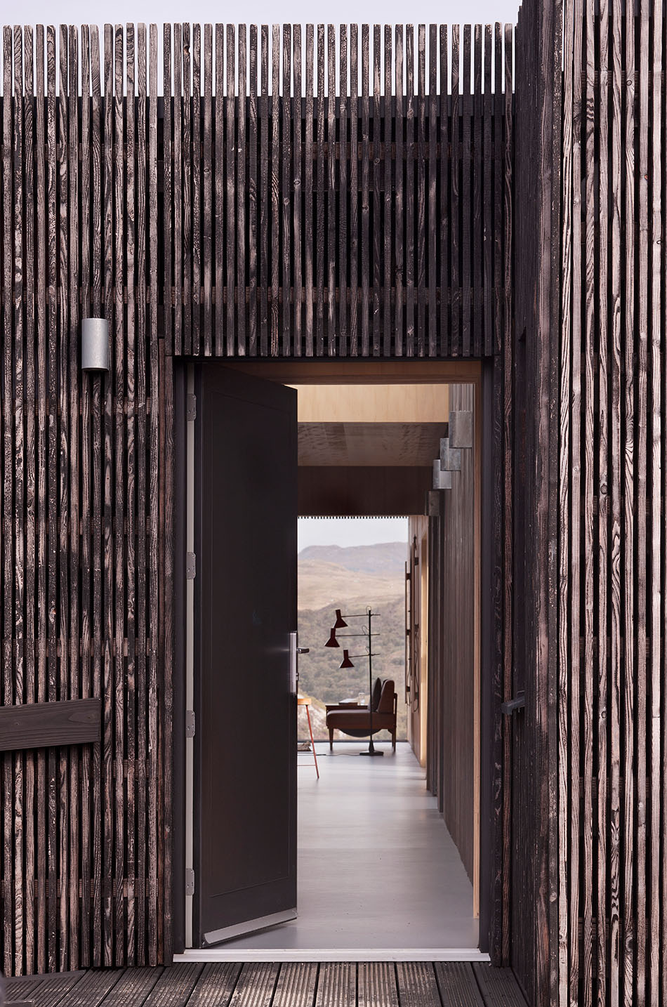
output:
[[190, 948], [174, 962], [489, 962], [479, 948]]

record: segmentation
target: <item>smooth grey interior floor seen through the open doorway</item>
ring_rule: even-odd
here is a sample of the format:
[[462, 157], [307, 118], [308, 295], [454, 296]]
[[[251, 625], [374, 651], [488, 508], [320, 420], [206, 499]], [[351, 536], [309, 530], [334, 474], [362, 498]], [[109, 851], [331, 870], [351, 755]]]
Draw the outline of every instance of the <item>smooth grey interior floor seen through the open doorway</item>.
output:
[[298, 756], [298, 918], [221, 949], [476, 949], [473, 887], [407, 742]]

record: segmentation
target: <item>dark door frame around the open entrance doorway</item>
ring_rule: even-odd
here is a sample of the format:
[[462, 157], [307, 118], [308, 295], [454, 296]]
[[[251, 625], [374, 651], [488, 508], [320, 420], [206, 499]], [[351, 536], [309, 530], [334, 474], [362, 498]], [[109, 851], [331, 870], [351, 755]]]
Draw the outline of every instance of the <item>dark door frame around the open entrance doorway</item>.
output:
[[[493, 466], [502, 463], [494, 457], [493, 439], [493, 359], [244, 359], [212, 357], [230, 371], [239, 371], [274, 381], [282, 385], [362, 385], [362, 384], [466, 384], [475, 386], [476, 429], [476, 510], [479, 514], [480, 556], [479, 587], [477, 591], [480, 616], [478, 646], [479, 684], [476, 698], [476, 716], [479, 720], [480, 742], [477, 748], [479, 764], [478, 829], [478, 886], [480, 917], [480, 950], [488, 952], [491, 943], [494, 904], [494, 722], [497, 716], [494, 700], [494, 635], [496, 632], [493, 604], [493, 570], [489, 557], [493, 556]], [[197, 359], [206, 367], [206, 359]], [[173, 951], [180, 953], [186, 944], [185, 912], [185, 852], [186, 852], [186, 754], [185, 754], [185, 681], [187, 668], [185, 624], [185, 557], [186, 557], [186, 499], [187, 499], [187, 449], [186, 449], [186, 382], [187, 368], [192, 362], [174, 358], [174, 515], [173, 515], [173, 871], [172, 871], [172, 926]], [[480, 422], [481, 421], [481, 422]], [[489, 462], [491, 461], [491, 464]], [[188, 927], [189, 929], [189, 927]]]

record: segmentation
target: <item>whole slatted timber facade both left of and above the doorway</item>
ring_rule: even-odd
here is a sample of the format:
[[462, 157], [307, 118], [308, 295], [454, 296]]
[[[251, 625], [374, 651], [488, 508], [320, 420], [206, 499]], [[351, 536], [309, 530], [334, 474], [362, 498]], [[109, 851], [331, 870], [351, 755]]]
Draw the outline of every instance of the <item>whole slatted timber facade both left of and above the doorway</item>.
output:
[[173, 356], [505, 345], [513, 32], [480, 38], [166, 25], [158, 103], [156, 26], [3, 29], [1, 702], [102, 704], [1, 756], [5, 972], [170, 958]]

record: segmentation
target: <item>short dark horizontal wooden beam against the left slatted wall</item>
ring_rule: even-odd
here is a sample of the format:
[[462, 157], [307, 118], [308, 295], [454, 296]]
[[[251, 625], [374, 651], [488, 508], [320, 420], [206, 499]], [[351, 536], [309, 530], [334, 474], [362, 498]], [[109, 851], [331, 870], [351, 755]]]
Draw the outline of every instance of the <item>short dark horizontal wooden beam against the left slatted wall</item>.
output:
[[0, 751], [99, 741], [101, 711], [99, 699], [0, 707]]

